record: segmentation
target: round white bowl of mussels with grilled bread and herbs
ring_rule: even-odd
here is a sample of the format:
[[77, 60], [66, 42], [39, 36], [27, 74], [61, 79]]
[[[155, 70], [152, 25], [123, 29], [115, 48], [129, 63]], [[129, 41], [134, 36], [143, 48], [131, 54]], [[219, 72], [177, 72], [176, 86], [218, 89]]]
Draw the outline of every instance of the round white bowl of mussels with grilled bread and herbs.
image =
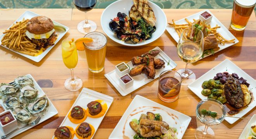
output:
[[118, 0], [101, 15], [103, 31], [125, 46], [143, 46], [158, 39], [167, 25], [166, 15], [148, 0]]

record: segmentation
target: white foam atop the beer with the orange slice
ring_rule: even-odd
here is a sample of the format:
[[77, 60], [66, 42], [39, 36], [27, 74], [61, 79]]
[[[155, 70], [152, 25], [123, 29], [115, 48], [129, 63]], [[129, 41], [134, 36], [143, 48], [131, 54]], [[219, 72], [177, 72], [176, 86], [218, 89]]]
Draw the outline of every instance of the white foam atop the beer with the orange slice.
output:
[[85, 46], [90, 49], [100, 49], [107, 43], [107, 38], [100, 32], [91, 32], [88, 33], [85, 37], [93, 39], [93, 42], [85, 43]]

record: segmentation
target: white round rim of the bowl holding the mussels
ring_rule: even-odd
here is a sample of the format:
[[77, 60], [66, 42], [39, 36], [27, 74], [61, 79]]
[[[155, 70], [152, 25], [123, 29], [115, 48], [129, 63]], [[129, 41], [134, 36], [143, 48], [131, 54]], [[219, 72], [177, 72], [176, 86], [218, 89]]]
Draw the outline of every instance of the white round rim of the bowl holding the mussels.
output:
[[[113, 2], [113, 3], [111, 3], [110, 5], [108, 5], [105, 9], [104, 9], [104, 11], [102, 12], [102, 14], [101, 14], [101, 16], [100, 16], [100, 24], [101, 24], [101, 27], [102, 27], [102, 30], [104, 31], [104, 33], [107, 35], [107, 33], [106, 33], [106, 31], [105, 31], [105, 29], [104, 29], [104, 27], [103, 27], [103, 25], [102, 25], [102, 18], [103, 18], [103, 15], [104, 15], [104, 13], [106, 12], [106, 10], [110, 7], [110, 6], [112, 6], [112, 5], [114, 5], [114, 4], [116, 4], [116, 3], [118, 3], [118, 2], [121, 2], [121, 1], [126, 1], [126, 0], [117, 0], [116, 2]], [[154, 6], [156, 6], [157, 8], [159, 8], [160, 10], [161, 10], [161, 12], [163, 13], [163, 15], [164, 15], [164, 18], [165, 18], [165, 23], [166, 23], [166, 25], [165, 25], [165, 27], [163, 27], [163, 31], [160, 33], [160, 35], [159, 35], [159, 37], [161, 37], [162, 35], [163, 35], [163, 33], [165, 32], [165, 30], [166, 30], [166, 26], [167, 26], [167, 17], [166, 17], [166, 15], [165, 15], [165, 13], [164, 13], [164, 11], [163, 11], [163, 9], [161, 9], [158, 5], [156, 5], [155, 3], [153, 3], [153, 2], [150, 2], [150, 1], [148, 1], [150, 4], [152, 4], [152, 5], [154, 5]], [[160, 11], [159, 10], [159, 11]], [[157, 10], [158, 11], [158, 10]], [[162, 19], [161, 19], [162, 20]], [[162, 28], [162, 27], [161, 27]], [[108, 35], [107, 35], [107, 37], [109, 37]], [[116, 39], [112, 39], [112, 37], [109, 37], [112, 41], [114, 41], [114, 42], [116, 42], [116, 43], [118, 43], [118, 44], [121, 44], [122, 46], [129, 46], [129, 47], [138, 47], [138, 46], [145, 46], [145, 45], [147, 45], [147, 44], [149, 44], [149, 43], [152, 43], [152, 42], [154, 42], [154, 41], [156, 41], [157, 39], [159, 39], [159, 37], [157, 37], [155, 40], [153, 40], [153, 41], [150, 41], [150, 42], [145, 42], [144, 44], [142, 44], [142, 43], [137, 43], [137, 44], [128, 44], [128, 43], [122, 43], [122, 41], [120, 42], [120, 41], [117, 41]]]

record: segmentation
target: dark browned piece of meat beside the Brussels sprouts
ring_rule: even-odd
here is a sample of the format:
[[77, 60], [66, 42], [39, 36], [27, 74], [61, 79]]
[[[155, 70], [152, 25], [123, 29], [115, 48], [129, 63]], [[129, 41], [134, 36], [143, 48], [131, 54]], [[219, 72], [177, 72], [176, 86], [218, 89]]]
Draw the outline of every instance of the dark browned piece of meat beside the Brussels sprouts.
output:
[[234, 108], [241, 108], [244, 105], [244, 93], [239, 81], [230, 76], [224, 84], [224, 93], [230, 105]]

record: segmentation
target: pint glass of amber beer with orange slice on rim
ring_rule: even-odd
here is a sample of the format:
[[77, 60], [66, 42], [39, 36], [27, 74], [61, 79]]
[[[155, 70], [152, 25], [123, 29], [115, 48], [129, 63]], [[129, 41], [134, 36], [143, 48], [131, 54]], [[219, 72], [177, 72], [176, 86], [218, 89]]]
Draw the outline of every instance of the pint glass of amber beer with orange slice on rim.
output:
[[83, 43], [85, 46], [88, 68], [93, 73], [99, 73], [104, 70], [107, 38], [100, 32], [90, 32], [84, 37], [93, 39], [93, 42]]

